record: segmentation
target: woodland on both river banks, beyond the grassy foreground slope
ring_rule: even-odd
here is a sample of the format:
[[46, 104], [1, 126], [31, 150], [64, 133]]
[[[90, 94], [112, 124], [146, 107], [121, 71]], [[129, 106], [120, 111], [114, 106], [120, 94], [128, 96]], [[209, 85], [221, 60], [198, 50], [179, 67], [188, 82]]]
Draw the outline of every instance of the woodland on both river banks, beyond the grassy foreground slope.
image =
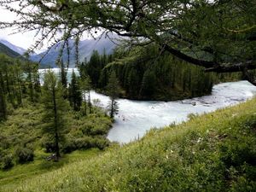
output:
[[[77, 149], [108, 147], [106, 137], [119, 111], [119, 97], [180, 100], [210, 94], [214, 82], [240, 77], [203, 73], [201, 67], [189, 66], [168, 53], [157, 55], [157, 49], [115, 50], [112, 55], [94, 51], [90, 61], [79, 63], [79, 74], [73, 71], [70, 80], [63, 61], [59, 74], [47, 70], [40, 74], [38, 63], [1, 55], [2, 169], [32, 161], [42, 150], [54, 153], [58, 160]], [[137, 51], [140, 55], [132, 57]], [[92, 89], [110, 96], [108, 108], [90, 101]]]

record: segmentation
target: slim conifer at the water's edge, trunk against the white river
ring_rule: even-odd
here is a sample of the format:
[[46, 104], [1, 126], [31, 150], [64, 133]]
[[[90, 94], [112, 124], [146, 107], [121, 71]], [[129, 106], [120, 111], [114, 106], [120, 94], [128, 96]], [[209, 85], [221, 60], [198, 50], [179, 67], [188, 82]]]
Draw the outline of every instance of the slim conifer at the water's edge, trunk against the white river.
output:
[[114, 71], [109, 75], [106, 90], [110, 97], [110, 102], [108, 102], [108, 111], [110, 117], [113, 118], [113, 116], [119, 112], [119, 104], [116, 100], [120, 93], [119, 80], [117, 79]]

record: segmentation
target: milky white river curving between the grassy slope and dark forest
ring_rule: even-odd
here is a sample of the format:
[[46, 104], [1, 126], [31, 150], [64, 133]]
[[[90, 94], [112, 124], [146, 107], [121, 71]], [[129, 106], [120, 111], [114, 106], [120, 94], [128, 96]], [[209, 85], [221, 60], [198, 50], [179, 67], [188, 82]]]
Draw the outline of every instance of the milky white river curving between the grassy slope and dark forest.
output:
[[[68, 75], [73, 69], [69, 69]], [[58, 69], [54, 69], [58, 73]], [[40, 71], [42, 72], [42, 71]], [[77, 73], [77, 70], [75, 71]], [[143, 137], [152, 127], [163, 127], [173, 122], [186, 120], [189, 113], [208, 113], [217, 108], [224, 108], [256, 95], [256, 86], [247, 81], [214, 85], [211, 96], [201, 96], [176, 102], [140, 102], [119, 99], [119, 114], [114, 118], [113, 128], [108, 139], [119, 143], [129, 143]], [[91, 99], [99, 99], [106, 108], [109, 98], [95, 91], [90, 93]]]

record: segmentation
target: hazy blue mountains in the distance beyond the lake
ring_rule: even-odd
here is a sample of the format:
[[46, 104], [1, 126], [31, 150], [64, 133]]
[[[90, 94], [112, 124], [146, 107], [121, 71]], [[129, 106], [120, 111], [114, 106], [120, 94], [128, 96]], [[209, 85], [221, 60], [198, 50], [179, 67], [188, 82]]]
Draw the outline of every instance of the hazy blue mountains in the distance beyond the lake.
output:
[[[112, 37], [114, 38], [114, 37]], [[75, 41], [73, 39], [69, 40], [68, 42], [70, 46], [70, 67], [74, 67], [75, 64]], [[59, 44], [55, 44], [53, 48], [51, 48], [47, 55], [45, 55], [47, 52], [44, 51], [43, 53], [40, 53], [38, 55], [32, 55], [30, 59], [32, 61], [40, 61], [42, 56], [44, 56], [43, 60], [41, 61], [42, 65], [55, 67], [55, 61], [58, 58], [58, 55], [60, 53], [61, 46], [63, 45], [63, 42]], [[79, 61], [84, 61], [85, 58], [87, 60], [90, 59], [90, 55], [92, 54], [93, 50], [97, 50], [99, 54], [103, 54], [104, 50], [107, 55], [111, 54], [113, 52], [113, 49], [115, 48], [116, 44], [113, 43], [109, 38], [96, 38], [96, 39], [86, 39], [79, 42]], [[64, 62], [67, 62], [67, 49], [64, 49], [62, 60]]]

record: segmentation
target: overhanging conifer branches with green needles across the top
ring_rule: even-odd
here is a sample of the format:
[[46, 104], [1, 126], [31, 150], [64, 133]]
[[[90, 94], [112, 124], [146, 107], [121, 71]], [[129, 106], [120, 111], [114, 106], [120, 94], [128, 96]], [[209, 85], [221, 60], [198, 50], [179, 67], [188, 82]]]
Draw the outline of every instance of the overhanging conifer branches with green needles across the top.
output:
[[[12, 2], [19, 3], [17, 9]], [[256, 68], [254, 1], [6, 0], [0, 4], [20, 15], [20, 20], [1, 26], [42, 34], [32, 48], [44, 40], [64, 40], [68, 47], [68, 38], [103, 30], [130, 37], [130, 45], [154, 42], [206, 71], [241, 71], [255, 84], [248, 73]]]

